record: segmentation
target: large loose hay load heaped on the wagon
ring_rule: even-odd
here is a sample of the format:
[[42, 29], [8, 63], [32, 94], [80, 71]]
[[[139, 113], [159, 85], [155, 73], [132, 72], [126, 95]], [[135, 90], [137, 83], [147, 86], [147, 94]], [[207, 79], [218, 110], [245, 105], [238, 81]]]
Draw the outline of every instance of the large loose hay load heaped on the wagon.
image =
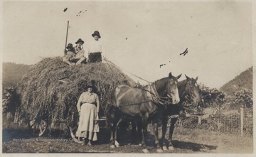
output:
[[101, 116], [110, 105], [114, 87], [121, 84], [133, 86], [135, 83], [110, 63], [69, 66], [61, 58], [44, 58], [18, 82], [18, 117], [23, 123], [33, 121], [34, 126], [44, 121], [48, 129], [58, 127], [60, 123], [72, 128], [78, 122], [78, 98], [92, 80], [100, 96]]

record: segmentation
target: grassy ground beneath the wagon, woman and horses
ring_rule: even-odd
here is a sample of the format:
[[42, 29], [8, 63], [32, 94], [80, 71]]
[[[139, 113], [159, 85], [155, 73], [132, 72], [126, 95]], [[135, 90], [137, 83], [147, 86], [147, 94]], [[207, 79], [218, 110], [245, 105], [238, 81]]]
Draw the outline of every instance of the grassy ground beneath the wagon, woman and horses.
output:
[[[149, 127], [150, 128], [150, 127]], [[99, 141], [94, 146], [81, 146], [71, 138], [35, 137], [26, 129], [3, 129], [3, 153], [143, 153], [142, 146], [129, 144], [129, 131], [122, 135], [119, 148], [110, 148], [109, 131], [101, 128]], [[161, 136], [161, 134], [160, 134]], [[153, 136], [149, 129], [147, 148], [156, 153]], [[174, 151], [164, 153], [253, 153], [253, 141], [250, 136], [239, 134], [220, 134], [203, 129], [176, 128], [174, 131]]]

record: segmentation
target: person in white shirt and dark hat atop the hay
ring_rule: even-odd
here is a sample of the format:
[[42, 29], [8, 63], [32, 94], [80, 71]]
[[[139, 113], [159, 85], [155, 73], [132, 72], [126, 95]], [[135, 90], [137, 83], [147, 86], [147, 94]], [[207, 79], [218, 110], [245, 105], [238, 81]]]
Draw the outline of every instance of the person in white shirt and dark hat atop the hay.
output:
[[90, 43], [88, 48], [88, 63], [99, 63], [102, 62], [102, 43], [99, 39], [101, 38], [100, 32], [95, 31], [92, 34], [94, 40]]

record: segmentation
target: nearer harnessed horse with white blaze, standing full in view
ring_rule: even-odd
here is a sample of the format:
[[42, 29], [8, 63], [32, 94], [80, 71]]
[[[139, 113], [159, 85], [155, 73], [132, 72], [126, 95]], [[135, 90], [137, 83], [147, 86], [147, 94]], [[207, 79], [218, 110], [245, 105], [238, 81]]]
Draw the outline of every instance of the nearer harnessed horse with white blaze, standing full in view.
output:
[[[158, 126], [167, 104], [178, 104], [178, 79], [169, 73], [169, 77], [156, 80], [143, 88], [118, 85], [112, 91], [111, 102], [106, 112], [106, 126], [111, 131], [111, 148], [118, 147], [117, 129], [125, 117], [142, 122], [142, 146], [145, 146], [149, 117], [154, 127], [154, 144], [159, 146]], [[159, 150], [159, 149], [158, 149]]]

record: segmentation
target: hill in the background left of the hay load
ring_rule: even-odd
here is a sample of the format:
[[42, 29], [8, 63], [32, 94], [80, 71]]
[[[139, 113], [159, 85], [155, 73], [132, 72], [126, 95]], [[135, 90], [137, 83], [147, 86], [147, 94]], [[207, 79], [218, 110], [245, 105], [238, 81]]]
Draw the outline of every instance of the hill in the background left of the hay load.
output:
[[3, 89], [17, 85], [32, 65], [3, 63]]

